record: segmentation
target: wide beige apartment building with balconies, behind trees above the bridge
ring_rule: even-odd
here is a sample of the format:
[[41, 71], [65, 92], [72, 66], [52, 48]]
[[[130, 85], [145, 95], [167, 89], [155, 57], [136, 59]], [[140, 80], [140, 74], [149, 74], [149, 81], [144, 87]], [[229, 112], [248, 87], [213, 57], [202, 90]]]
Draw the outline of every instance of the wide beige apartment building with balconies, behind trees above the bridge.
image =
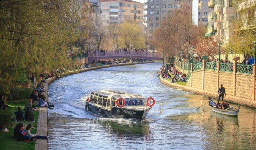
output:
[[132, 0], [99, 0], [100, 18], [106, 24], [122, 23], [124, 20], [144, 22], [145, 4]]

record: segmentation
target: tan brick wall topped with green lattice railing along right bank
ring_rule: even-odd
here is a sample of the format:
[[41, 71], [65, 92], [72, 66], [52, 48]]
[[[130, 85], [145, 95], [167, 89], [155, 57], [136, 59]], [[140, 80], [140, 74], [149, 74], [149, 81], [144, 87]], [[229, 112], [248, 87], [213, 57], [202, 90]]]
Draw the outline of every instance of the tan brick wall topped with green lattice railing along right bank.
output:
[[[255, 65], [225, 64], [220, 62], [199, 62], [190, 64], [186, 70], [178, 60], [176, 69], [182, 72], [191, 72], [187, 86], [200, 91], [217, 92], [220, 84], [226, 89], [229, 101], [253, 107], [256, 103], [256, 69]], [[192, 70], [190, 69], [192, 68]], [[190, 70], [189, 70], [190, 69]], [[227, 99], [227, 98], [226, 98]]]

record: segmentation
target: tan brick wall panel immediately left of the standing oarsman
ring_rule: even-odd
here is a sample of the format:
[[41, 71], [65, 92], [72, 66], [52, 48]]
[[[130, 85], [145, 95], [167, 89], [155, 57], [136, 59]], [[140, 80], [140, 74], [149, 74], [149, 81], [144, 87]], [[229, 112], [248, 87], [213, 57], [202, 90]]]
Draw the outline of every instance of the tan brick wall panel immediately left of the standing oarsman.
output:
[[217, 92], [218, 87], [218, 73], [213, 71], [204, 71], [204, 89], [211, 91], [211, 92]]

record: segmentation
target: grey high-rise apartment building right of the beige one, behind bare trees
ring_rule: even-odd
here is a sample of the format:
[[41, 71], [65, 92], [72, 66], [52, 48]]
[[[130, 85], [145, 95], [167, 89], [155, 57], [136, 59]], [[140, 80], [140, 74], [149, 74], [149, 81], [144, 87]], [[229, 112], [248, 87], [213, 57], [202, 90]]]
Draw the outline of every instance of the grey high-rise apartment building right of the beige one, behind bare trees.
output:
[[188, 9], [188, 17], [192, 17], [192, 0], [148, 0], [146, 4], [148, 35], [160, 26], [166, 15], [172, 14], [176, 9]]

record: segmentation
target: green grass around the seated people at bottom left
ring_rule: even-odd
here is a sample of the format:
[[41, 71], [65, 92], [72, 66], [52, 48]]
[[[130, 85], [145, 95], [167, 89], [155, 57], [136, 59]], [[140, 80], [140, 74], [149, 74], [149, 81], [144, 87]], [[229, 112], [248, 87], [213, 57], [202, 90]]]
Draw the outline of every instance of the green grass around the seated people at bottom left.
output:
[[[18, 107], [22, 108], [22, 111], [25, 114], [25, 111], [23, 110], [26, 102], [28, 100], [21, 100], [21, 101], [7, 101], [8, 108], [6, 111], [10, 111], [13, 114], [13, 118], [15, 118], [14, 112], [16, 112]], [[36, 119], [36, 122], [30, 122], [30, 121], [21, 121], [24, 125], [24, 128], [28, 124], [32, 124], [32, 128], [30, 129], [32, 134], [36, 134], [37, 130], [37, 121], [38, 121], [38, 111], [34, 111], [34, 119]], [[34, 150], [35, 149], [35, 141], [32, 142], [24, 142], [24, 141], [17, 141], [16, 138], [13, 137], [13, 130], [20, 122], [12, 121], [12, 124], [7, 126], [9, 132], [0, 132], [0, 149], [1, 150]]]

